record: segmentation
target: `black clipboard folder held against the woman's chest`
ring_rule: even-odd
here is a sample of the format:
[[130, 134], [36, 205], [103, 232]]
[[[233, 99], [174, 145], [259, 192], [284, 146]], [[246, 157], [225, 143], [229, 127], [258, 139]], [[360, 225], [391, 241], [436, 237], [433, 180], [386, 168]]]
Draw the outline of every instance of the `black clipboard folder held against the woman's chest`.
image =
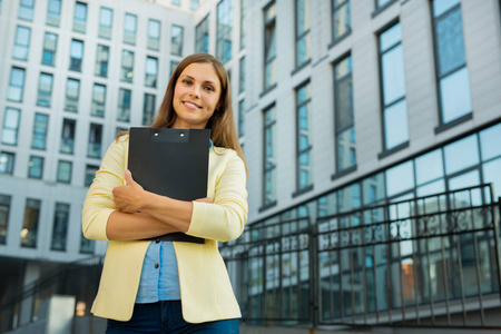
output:
[[[128, 168], [145, 190], [180, 200], [207, 197], [209, 129], [131, 127]], [[150, 239], [200, 243], [171, 233]]]

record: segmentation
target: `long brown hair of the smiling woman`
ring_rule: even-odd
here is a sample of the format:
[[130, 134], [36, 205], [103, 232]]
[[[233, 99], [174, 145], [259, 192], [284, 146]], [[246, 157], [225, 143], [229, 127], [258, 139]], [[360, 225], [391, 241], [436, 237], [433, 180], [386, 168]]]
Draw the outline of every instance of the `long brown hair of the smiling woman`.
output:
[[[212, 55], [193, 53], [183, 59], [181, 62], [179, 62], [179, 65], [170, 76], [170, 80], [167, 85], [167, 90], [165, 91], [160, 108], [158, 109], [158, 114], [153, 120], [150, 127], [168, 128], [174, 125], [177, 118], [176, 111], [174, 110], [173, 106], [174, 89], [180, 73], [185, 70], [185, 68], [194, 62], [210, 63], [216, 71], [222, 87], [219, 101], [217, 102], [216, 107], [217, 109], [207, 121], [205, 128], [210, 129], [210, 137], [214, 146], [234, 149], [244, 161], [245, 169], [247, 170], [247, 164], [245, 161], [244, 153], [242, 151], [240, 143], [238, 141], [238, 136], [235, 129], [235, 121], [233, 118], [232, 92], [229, 89], [228, 75], [223, 63], [220, 63], [220, 61]], [[118, 134], [117, 137], [119, 137], [120, 135], [122, 134]]]

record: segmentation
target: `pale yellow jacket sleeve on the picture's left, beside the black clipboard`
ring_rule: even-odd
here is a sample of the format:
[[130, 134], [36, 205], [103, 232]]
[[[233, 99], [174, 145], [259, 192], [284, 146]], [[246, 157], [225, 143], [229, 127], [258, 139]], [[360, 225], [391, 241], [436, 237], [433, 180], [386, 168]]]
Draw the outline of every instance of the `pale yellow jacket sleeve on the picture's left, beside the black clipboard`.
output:
[[96, 178], [87, 191], [82, 208], [82, 233], [88, 239], [108, 240], [106, 226], [109, 215], [116, 210], [112, 189], [125, 184], [126, 141], [124, 136], [115, 140], [102, 158]]

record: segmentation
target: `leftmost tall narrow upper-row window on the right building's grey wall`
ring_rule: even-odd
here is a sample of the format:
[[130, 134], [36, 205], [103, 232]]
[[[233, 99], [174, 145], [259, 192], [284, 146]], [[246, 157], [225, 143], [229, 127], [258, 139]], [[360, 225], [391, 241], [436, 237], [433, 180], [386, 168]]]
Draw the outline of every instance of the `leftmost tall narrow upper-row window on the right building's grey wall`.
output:
[[272, 88], [276, 84], [276, 31], [275, 31], [276, 9], [272, 2], [265, 9], [265, 68], [264, 88]]

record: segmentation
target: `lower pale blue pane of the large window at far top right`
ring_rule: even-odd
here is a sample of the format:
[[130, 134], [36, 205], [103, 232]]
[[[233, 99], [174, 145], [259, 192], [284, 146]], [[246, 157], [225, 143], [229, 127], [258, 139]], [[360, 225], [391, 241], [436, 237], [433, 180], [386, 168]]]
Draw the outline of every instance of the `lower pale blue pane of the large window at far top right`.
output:
[[440, 80], [440, 92], [444, 124], [471, 112], [470, 82], [465, 67]]

